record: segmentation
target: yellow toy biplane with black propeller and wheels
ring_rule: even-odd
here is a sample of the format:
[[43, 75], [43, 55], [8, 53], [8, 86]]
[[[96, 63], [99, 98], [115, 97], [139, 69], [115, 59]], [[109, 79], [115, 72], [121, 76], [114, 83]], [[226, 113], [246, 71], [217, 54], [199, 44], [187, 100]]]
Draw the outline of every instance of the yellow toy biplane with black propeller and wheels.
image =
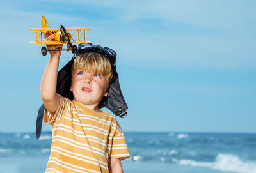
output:
[[[67, 49], [63, 50], [71, 50], [73, 54], [76, 53], [77, 47], [74, 44], [81, 44], [81, 43], [90, 43], [90, 41], [85, 40], [85, 31], [90, 31], [91, 29], [84, 28], [84, 27], [70, 27], [64, 28], [62, 25], [60, 29], [51, 28], [46, 21], [45, 17], [42, 16], [42, 25], [41, 28], [31, 28], [30, 31], [36, 32], [36, 41], [31, 41], [30, 43], [35, 43], [37, 45], [61, 45], [67, 44]], [[68, 31], [73, 31], [74, 34], [70, 34]], [[44, 38], [44, 34], [49, 32], [49, 36], [47, 38], [52, 38], [53, 40], [47, 40]], [[77, 34], [77, 41], [74, 40], [74, 35]], [[42, 47], [41, 53], [43, 56], [46, 56], [47, 51], [60, 51], [60, 50], [47, 50], [46, 47]]]

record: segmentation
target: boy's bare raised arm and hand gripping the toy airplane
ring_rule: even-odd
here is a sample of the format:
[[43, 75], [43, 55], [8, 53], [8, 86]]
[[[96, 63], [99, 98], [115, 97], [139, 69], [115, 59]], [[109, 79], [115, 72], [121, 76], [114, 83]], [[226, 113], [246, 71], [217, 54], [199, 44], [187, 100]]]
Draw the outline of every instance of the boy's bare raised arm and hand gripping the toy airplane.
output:
[[[63, 45], [47, 45], [47, 49], [61, 50]], [[41, 80], [40, 93], [45, 108], [51, 113], [56, 112], [60, 103], [60, 96], [56, 93], [58, 66], [61, 51], [51, 51], [51, 57], [45, 67]]]

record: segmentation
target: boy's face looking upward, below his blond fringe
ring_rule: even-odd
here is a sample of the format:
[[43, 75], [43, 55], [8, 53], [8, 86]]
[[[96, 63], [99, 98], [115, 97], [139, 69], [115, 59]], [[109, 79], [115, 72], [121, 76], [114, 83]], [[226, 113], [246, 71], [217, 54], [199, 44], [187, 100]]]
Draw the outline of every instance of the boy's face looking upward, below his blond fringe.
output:
[[105, 75], [77, 69], [72, 73], [70, 91], [75, 100], [84, 105], [99, 105], [103, 96], [108, 96], [107, 84]]

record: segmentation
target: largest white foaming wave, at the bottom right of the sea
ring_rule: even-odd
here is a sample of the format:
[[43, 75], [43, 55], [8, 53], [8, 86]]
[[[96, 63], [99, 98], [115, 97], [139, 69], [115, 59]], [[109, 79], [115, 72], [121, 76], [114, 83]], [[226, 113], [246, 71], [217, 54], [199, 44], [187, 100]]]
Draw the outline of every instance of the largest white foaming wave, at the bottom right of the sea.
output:
[[175, 163], [180, 165], [187, 165], [192, 167], [209, 167], [211, 169], [226, 171], [226, 172], [237, 172], [237, 173], [255, 173], [256, 163], [254, 162], [243, 162], [239, 157], [231, 154], [218, 154], [215, 162], [196, 162], [195, 160], [186, 159], [173, 159]]

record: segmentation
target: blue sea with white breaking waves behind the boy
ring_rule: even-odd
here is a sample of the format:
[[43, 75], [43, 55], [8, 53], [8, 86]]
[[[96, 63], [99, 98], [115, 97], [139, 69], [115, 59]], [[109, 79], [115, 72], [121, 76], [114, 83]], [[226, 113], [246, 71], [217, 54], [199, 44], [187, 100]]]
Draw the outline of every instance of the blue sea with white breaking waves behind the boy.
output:
[[[256, 173], [256, 133], [124, 132], [124, 172]], [[45, 172], [51, 132], [0, 132], [0, 172]]]

